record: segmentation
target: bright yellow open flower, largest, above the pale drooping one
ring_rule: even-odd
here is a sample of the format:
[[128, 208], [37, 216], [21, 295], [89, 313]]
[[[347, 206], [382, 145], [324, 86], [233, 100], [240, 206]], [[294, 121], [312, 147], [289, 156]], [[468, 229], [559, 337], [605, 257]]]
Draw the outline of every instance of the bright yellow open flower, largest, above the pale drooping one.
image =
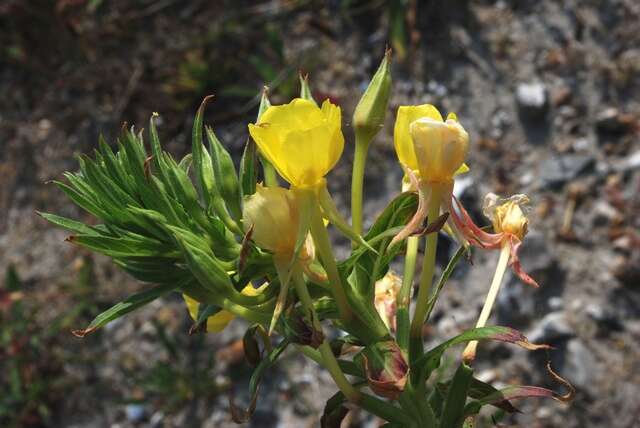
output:
[[342, 155], [340, 107], [329, 100], [319, 108], [296, 98], [271, 106], [249, 133], [262, 154], [292, 186], [315, 188]]

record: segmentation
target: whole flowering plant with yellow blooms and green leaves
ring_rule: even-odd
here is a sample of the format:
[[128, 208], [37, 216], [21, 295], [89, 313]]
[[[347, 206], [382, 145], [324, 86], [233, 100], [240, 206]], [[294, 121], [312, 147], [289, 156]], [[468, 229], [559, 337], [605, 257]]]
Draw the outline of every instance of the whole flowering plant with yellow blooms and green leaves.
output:
[[[104, 224], [43, 216], [70, 229], [70, 242], [106, 254], [135, 278], [156, 285], [75, 334], [89, 334], [174, 291], [184, 295], [194, 320], [192, 332], [217, 332], [233, 318], [244, 318], [251, 324], [243, 339], [245, 353], [257, 367], [249, 408], [242, 411], [232, 404], [237, 421], [251, 415], [261, 376], [290, 344], [323, 365], [340, 390], [327, 403], [323, 426], [339, 426], [347, 402], [389, 426], [460, 427], [483, 405], [511, 410], [510, 398], [566, 399], [543, 388], [499, 391], [473, 377], [470, 365], [478, 341], [527, 349], [546, 346], [531, 344], [508, 327], [486, 326], [507, 266], [537, 286], [518, 258], [529, 226], [529, 200], [489, 194], [484, 213], [493, 232], [472, 221], [453, 194], [457, 176], [469, 171], [472, 150], [472, 138], [455, 114], [444, 119], [429, 104], [397, 109], [393, 140], [398, 167], [405, 172], [398, 183], [403, 191], [363, 230], [363, 177], [370, 143], [385, 123], [389, 60], [387, 52], [353, 114], [351, 222], [327, 188], [327, 174], [345, 146], [342, 110], [329, 100], [318, 105], [306, 78], [301, 79], [300, 98], [288, 104], [271, 105], [263, 93], [258, 117], [248, 125], [251, 140], [238, 172], [213, 129], [205, 128], [209, 148], [203, 144], [208, 98], [194, 122], [193, 153], [181, 162], [162, 152], [153, 118], [151, 156], [142, 134], [131, 130], [125, 131], [117, 154], [102, 143], [95, 160], [83, 158], [81, 171], [67, 175], [70, 184], [58, 185]], [[352, 243], [345, 259], [335, 256], [331, 227]], [[441, 231], [460, 248], [435, 283]], [[500, 252], [476, 328], [425, 349], [423, 326], [452, 270], [472, 247]], [[404, 257], [402, 276], [389, 269], [399, 257]], [[343, 334], [331, 339], [335, 335], [325, 334], [329, 325]], [[460, 343], [468, 345], [457, 371], [432, 389], [428, 380], [438, 371], [444, 351]]]

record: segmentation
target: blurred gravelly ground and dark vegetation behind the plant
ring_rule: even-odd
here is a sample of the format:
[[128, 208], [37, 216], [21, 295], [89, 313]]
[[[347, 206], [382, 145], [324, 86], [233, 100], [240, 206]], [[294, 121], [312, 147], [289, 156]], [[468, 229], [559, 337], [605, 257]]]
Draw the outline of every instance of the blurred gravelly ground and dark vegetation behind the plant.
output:
[[[555, 346], [553, 366], [577, 395], [517, 403], [523, 413], [501, 426], [638, 426], [636, 0], [0, 1], [0, 426], [234, 426], [228, 395], [246, 403], [250, 375], [237, 342], [246, 325], [189, 336], [176, 296], [73, 337], [141, 284], [35, 211], [93, 221], [47, 182], [75, 170], [99, 134], [114, 143], [123, 123], [144, 128], [152, 112], [165, 149], [182, 157], [207, 94], [216, 97], [206, 123], [237, 159], [263, 85], [273, 103], [287, 102], [302, 71], [316, 99], [343, 109], [348, 142], [330, 185], [347, 213], [350, 117], [386, 45], [393, 96], [369, 155], [369, 221], [400, 188], [392, 130], [407, 104], [455, 111], [469, 131], [471, 172], [456, 192], [478, 221], [489, 191], [533, 201], [522, 263], [541, 288], [508, 276], [492, 320]], [[429, 340], [474, 325], [496, 259], [477, 252], [457, 269]], [[561, 389], [545, 361], [489, 345], [477, 371], [495, 385]], [[326, 373], [287, 354], [245, 426], [318, 426], [333, 392]], [[354, 412], [345, 426], [379, 424]]]

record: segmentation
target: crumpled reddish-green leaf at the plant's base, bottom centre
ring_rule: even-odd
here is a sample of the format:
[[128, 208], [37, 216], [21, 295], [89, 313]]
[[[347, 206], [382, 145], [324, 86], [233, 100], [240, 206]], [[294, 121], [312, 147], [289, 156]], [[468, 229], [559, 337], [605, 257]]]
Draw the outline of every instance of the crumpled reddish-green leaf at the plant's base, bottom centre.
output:
[[367, 383], [377, 395], [396, 400], [404, 391], [409, 365], [393, 340], [367, 346], [356, 361], [364, 367]]

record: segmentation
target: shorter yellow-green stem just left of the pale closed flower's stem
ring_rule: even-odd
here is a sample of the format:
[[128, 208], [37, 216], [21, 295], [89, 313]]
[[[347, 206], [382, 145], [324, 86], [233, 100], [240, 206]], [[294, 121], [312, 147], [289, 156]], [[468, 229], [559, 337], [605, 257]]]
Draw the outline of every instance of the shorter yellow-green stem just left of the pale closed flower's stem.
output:
[[398, 310], [396, 311], [396, 340], [398, 346], [405, 354], [409, 352], [409, 302], [411, 301], [413, 277], [416, 272], [419, 243], [420, 240], [417, 236], [407, 238], [407, 254], [404, 259], [402, 286], [396, 297], [396, 301], [398, 302]]

